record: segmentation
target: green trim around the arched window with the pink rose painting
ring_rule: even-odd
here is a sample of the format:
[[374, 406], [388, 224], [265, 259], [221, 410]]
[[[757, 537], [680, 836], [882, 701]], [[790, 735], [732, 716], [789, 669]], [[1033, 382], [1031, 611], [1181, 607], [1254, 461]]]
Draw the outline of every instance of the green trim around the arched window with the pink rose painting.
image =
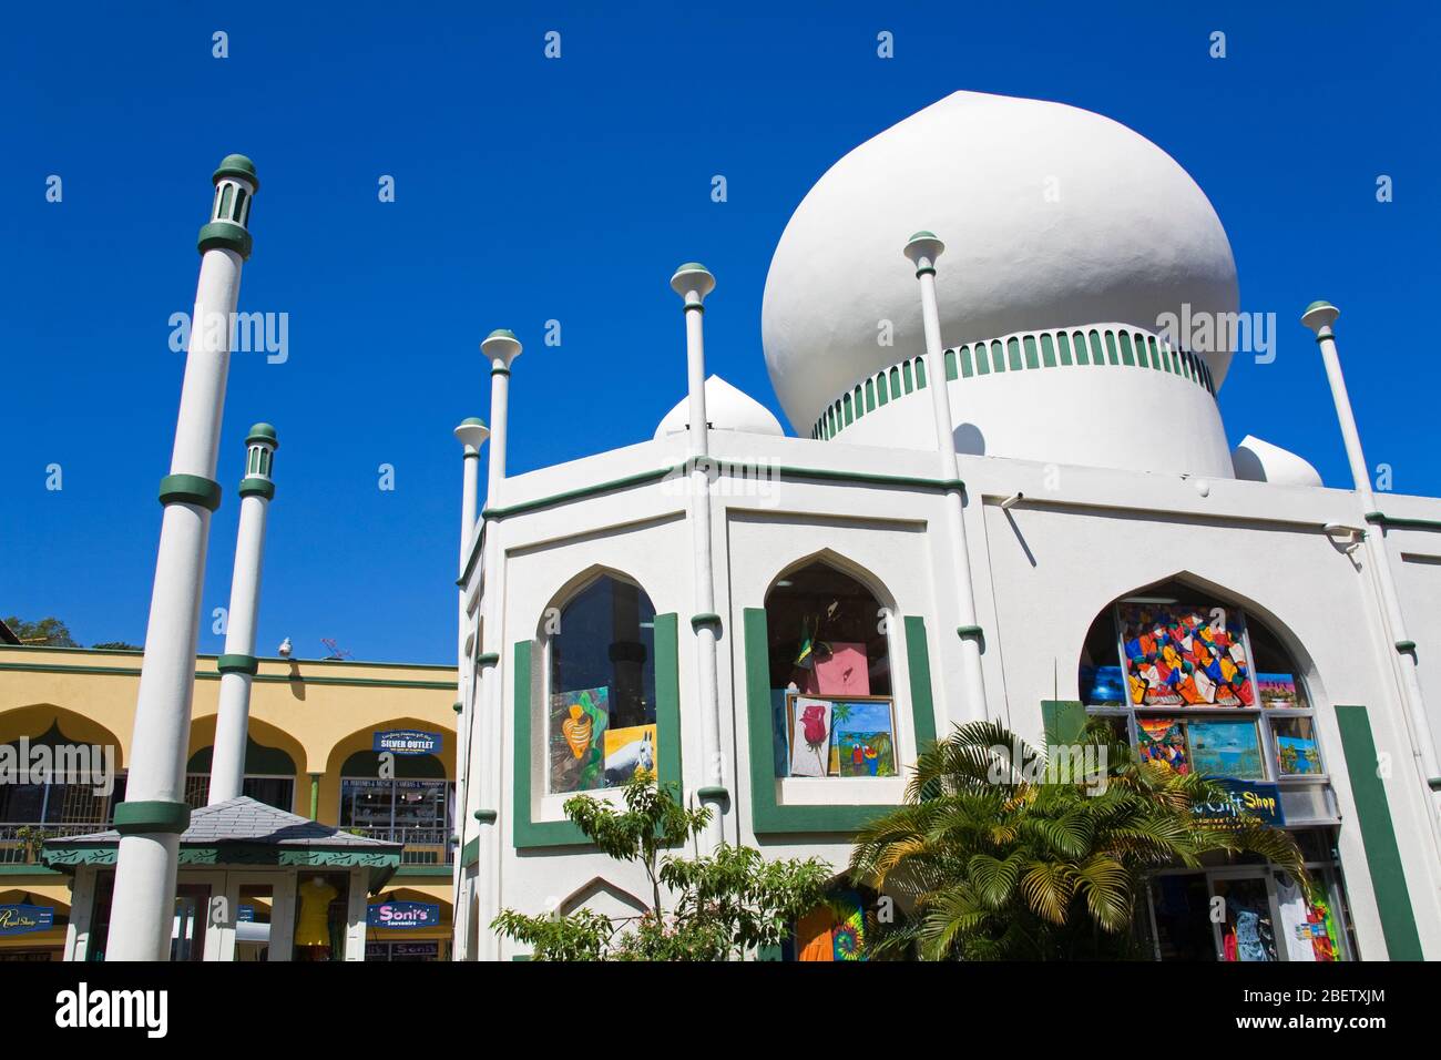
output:
[[[771, 707], [771, 663], [764, 607], [746, 607], [745, 698], [746, 736], [751, 757], [751, 828], [757, 835], [853, 834], [899, 803], [849, 803], [831, 806], [782, 806], [775, 799], [778, 783]], [[906, 675], [911, 681], [911, 730], [919, 754], [935, 743], [935, 701], [931, 691], [931, 652], [925, 619], [905, 616]]]

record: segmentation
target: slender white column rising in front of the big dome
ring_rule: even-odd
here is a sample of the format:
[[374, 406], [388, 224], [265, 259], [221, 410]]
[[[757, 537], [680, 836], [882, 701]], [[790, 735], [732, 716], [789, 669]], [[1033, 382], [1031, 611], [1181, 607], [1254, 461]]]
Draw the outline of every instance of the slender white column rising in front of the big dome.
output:
[[965, 694], [965, 720], [990, 717], [986, 710], [986, 678], [981, 673], [981, 627], [976, 623], [976, 590], [971, 586], [971, 552], [965, 544], [965, 512], [961, 505], [961, 480], [955, 466], [955, 428], [951, 423], [951, 397], [945, 381], [945, 350], [941, 346], [941, 313], [935, 304], [935, 260], [945, 244], [934, 232], [916, 232], [905, 245], [905, 255], [915, 265], [921, 281], [921, 322], [925, 327], [925, 375], [935, 415], [935, 449], [941, 459], [945, 489], [945, 519], [954, 542], [955, 607], [961, 624], [961, 688]]

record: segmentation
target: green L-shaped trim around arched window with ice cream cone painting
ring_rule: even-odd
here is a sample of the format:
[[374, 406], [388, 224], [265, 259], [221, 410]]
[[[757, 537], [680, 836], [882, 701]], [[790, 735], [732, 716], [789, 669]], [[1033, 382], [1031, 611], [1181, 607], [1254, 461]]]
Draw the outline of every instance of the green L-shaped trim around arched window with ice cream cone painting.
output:
[[[680, 636], [679, 616], [656, 616], [656, 766], [661, 785], [682, 789], [680, 764]], [[530, 747], [537, 733], [535, 710], [545, 694], [545, 675], [537, 663], [536, 642], [514, 646], [514, 786], [512, 789], [516, 849], [543, 847], [588, 847], [589, 839], [571, 821], [536, 821], [532, 796]], [[769, 733], [769, 730], [767, 730]]]

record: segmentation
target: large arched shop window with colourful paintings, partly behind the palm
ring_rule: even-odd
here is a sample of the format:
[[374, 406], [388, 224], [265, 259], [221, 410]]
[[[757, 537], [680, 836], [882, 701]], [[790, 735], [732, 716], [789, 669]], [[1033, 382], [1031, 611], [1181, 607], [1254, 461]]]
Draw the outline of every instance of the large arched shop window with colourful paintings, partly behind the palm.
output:
[[1197, 806], [1199, 816], [1249, 813], [1290, 831], [1319, 884], [1303, 893], [1274, 867], [1225, 858], [1157, 873], [1140, 927], [1159, 959], [1355, 953], [1314, 698], [1275, 632], [1233, 603], [1167, 581], [1097, 616], [1081, 649], [1079, 689], [1087, 712], [1108, 720], [1138, 759], [1222, 785], [1226, 799]]

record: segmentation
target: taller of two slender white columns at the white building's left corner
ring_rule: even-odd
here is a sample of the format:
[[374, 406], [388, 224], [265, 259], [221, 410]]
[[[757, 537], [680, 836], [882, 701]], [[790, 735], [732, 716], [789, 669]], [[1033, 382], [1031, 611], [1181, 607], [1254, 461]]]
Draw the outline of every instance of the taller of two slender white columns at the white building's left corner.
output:
[[[491, 509], [500, 506], [501, 485], [506, 480], [506, 434], [510, 425], [510, 365], [520, 356], [520, 342], [516, 339], [514, 332], [497, 329], [486, 336], [486, 340], [480, 343], [480, 349], [490, 362], [490, 474], [486, 483], [486, 508], [481, 512], [481, 518], [486, 518]], [[500, 548], [496, 541], [494, 528], [486, 526], [481, 532], [484, 534], [484, 544], [481, 545], [480, 558], [480, 623], [484, 643], [477, 659], [480, 663], [480, 689], [473, 731], [483, 733], [481, 738], [484, 743], [481, 746], [486, 748], [486, 760], [490, 763], [490, 769], [483, 770], [478, 777], [478, 798], [476, 799], [477, 808], [474, 813], [476, 821], [488, 825], [488, 828], [481, 828], [477, 835], [480, 841], [478, 864], [481, 867], [478, 873], [481, 894], [478, 956], [481, 960], [499, 960], [500, 937], [491, 930], [490, 924], [500, 916], [500, 858], [503, 848], [501, 834], [497, 828], [497, 812], [501, 805], [500, 763], [503, 747], [501, 721], [504, 714], [500, 695], [500, 599], [504, 574], [500, 570]], [[520, 675], [516, 675], [516, 679], [522, 679]], [[529, 679], [529, 675], [525, 679]]]

